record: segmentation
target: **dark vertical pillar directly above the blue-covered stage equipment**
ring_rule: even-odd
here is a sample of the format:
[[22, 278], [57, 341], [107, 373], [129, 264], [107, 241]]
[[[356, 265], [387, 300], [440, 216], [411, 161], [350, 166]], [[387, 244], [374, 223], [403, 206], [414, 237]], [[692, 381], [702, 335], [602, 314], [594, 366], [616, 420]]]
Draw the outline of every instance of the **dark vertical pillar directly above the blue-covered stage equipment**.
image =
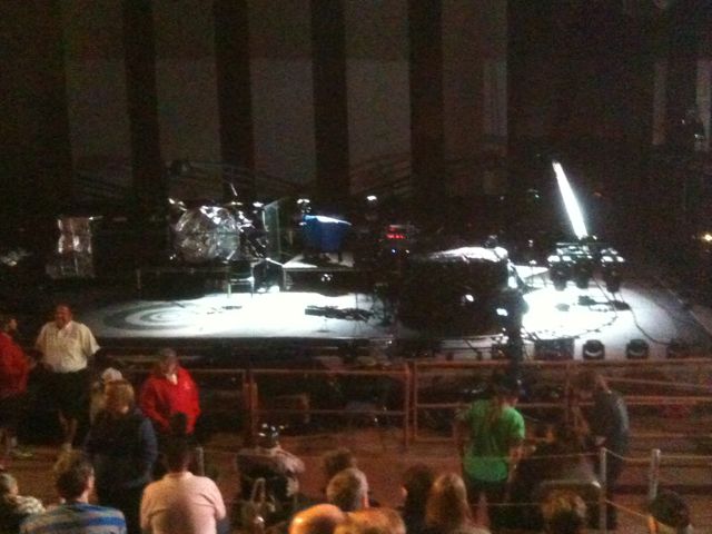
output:
[[312, 0], [316, 195], [338, 207], [349, 195], [346, 38], [343, 0]]

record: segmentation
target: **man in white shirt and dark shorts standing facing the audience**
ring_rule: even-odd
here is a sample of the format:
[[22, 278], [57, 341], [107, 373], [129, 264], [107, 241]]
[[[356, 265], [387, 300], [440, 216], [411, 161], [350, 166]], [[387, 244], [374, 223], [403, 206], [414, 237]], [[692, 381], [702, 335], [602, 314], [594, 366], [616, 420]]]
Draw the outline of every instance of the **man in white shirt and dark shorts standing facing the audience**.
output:
[[71, 449], [79, 421], [88, 416], [88, 364], [99, 345], [88, 326], [72, 318], [71, 308], [59, 304], [55, 320], [42, 326], [37, 342], [42, 366], [49, 372], [48, 387], [59, 408], [62, 424], [62, 449]]

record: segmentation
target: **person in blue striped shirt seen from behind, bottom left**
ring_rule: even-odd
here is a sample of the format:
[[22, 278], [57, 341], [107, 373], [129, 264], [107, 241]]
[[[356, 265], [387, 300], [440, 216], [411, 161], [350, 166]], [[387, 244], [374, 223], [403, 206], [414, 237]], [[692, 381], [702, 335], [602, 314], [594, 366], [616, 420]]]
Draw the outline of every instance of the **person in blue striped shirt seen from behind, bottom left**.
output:
[[21, 525], [22, 534], [67, 532], [72, 534], [126, 534], [123, 514], [118, 510], [89, 504], [95, 476], [91, 463], [79, 453], [66, 456], [56, 486], [62, 503], [31, 515]]

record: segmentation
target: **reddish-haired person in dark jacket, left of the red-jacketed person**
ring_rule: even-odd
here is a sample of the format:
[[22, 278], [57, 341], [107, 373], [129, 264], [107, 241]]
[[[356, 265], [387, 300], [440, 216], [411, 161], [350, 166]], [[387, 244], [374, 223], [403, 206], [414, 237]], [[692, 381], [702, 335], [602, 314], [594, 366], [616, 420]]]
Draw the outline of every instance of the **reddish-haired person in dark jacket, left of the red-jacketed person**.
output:
[[154, 427], [136, 407], [127, 380], [107, 384], [106, 407], [91, 425], [85, 449], [97, 469], [99, 503], [123, 512], [129, 534], [140, 533], [141, 494], [158, 451]]

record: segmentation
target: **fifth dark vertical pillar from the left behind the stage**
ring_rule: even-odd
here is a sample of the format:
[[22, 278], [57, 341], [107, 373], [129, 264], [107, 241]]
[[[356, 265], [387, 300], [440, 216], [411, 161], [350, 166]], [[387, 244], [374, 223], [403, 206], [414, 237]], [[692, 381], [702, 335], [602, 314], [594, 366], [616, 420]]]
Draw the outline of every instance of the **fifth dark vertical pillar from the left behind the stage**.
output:
[[426, 227], [436, 224], [444, 195], [442, 18], [439, 0], [408, 0], [414, 208]]

